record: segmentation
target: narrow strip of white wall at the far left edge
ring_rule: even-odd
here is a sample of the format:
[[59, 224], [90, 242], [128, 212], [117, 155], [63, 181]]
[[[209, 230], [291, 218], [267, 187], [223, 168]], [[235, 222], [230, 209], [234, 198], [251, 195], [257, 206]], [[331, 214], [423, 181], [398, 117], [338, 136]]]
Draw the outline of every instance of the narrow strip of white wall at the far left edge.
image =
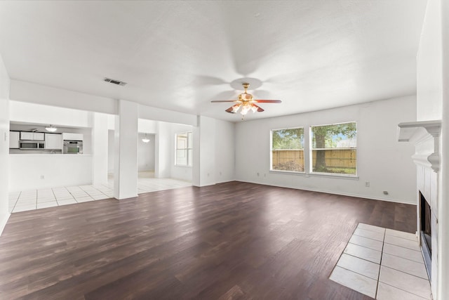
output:
[[0, 56], [0, 235], [8, 221], [10, 79]]

